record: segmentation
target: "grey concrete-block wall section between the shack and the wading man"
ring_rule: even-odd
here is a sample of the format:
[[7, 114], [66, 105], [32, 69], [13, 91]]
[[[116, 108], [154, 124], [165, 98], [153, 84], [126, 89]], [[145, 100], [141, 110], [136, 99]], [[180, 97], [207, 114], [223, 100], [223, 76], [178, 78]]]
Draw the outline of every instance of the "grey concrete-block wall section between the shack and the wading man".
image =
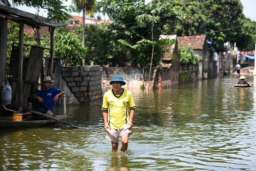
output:
[[100, 66], [62, 67], [62, 78], [81, 104], [102, 102]]

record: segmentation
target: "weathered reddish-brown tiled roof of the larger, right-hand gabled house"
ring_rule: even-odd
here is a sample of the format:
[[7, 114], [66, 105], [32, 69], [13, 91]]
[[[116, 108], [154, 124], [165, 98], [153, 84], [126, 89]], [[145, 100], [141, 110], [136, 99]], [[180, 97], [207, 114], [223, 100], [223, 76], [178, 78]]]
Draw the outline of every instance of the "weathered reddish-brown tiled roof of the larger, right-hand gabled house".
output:
[[206, 35], [177, 37], [179, 46], [184, 44], [192, 46], [193, 49], [203, 49]]

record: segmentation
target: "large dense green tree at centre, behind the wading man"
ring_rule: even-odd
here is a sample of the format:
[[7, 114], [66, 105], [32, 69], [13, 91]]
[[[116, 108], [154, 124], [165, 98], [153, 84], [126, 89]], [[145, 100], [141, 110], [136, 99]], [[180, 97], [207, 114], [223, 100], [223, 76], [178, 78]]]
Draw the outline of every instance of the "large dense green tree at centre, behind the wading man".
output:
[[[118, 42], [129, 48], [131, 66], [150, 66], [152, 54], [152, 42], [155, 50], [153, 66], [160, 63], [161, 48], [158, 45], [160, 34], [164, 34], [164, 23], [173, 22], [168, 18], [182, 18], [183, 13], [173, 8], [170, 1], [152, 1], [148, 4], [144, 0], [132, 1], [126, 4], [126, 0], [102, 0], [102, 4], [109, 4], [103, 7], [103, 12], [112, 20], [109, 29], [120, 38]], [[122, 5], [117, 5], [122, 4]], [[154, 21], [154, 40], [152, 40], [152, 20]], [[126, 55], [124, 55], [126, 56]], [[119, 58], [124, 60], [124, 58]]]

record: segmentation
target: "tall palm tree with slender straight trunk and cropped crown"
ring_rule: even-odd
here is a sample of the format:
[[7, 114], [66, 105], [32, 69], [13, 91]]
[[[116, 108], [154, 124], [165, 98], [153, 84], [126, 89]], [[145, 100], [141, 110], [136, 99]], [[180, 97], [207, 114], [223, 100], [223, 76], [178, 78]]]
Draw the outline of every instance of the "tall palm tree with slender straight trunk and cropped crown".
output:
[[82, 46], [85, 47], [85, 32], [84, 32], [84, 24], [85, 24], [85, 16], [90, 14], [92, 16], [94, 11], [97, 9], [97, 2], [95, 0], [72, 0], [72, 3], [76, 5], [76, 7], [83, 12], [83, 23], [82, 23]]

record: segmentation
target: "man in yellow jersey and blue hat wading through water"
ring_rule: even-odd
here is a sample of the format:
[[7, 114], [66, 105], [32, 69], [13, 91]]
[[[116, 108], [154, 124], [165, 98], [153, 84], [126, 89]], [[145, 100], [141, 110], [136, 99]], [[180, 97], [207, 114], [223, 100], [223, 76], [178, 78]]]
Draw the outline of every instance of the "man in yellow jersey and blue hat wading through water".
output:
[[122, 76], [113, 76], [109, 84], [112, 85], [112, 89], [104, 93], [102, 104], [106, 139], [112, 142], [112, 152], [115, 152], [118, 150], [118, 139], [121, 137], [120, 151], [126, 152], [136, 106], [132, 93], [122, 88], [122, 85], [126, 84]]

